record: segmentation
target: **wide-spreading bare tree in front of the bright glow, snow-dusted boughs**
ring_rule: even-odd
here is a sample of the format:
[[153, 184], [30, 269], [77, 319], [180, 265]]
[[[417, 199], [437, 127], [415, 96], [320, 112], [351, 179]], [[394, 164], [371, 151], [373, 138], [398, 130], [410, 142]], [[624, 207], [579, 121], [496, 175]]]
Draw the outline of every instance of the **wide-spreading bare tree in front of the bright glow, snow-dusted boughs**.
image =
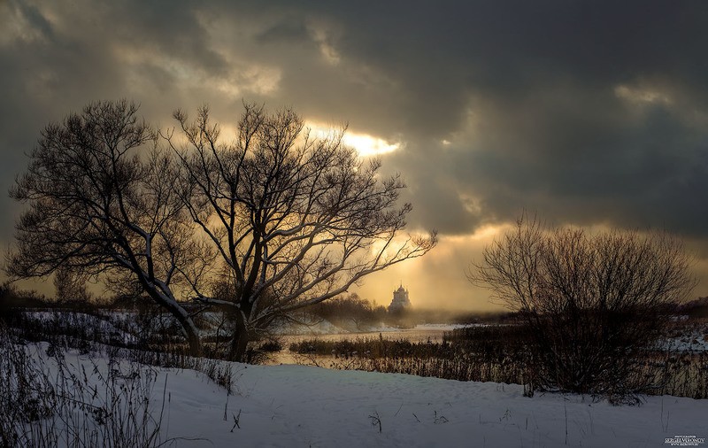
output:
[[227, 300], [192, 286], [197, 300], [232, 310], [230, 359], [243, 359], [273, 321], [435, 245], [434, 233], [402, 235], [411, 211], [396, 208], [404, 183], [381, 179], [381, 162], [359, 158], [343, 131], [313, 138], [295, 112], [244, 104], [235, 142], [225, 144], [207, 108], [193, 122], [174, 117], [189, 142], [168, 136], [181, 159], [182, 200], [232, 283]]

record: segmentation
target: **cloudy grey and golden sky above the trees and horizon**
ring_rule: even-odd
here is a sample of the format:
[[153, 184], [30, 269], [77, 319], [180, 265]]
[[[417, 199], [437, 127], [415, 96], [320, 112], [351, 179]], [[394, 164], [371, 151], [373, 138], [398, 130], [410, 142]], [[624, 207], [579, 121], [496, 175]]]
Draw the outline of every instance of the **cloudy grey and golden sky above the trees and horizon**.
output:
[[[242, 101], [348, 123], [408, 185], [427, 256], [358, 290], [386, 305], [488, 310], [465, 276], [524, 212], [666, 229], [708, 296], [708, 2], [0, 0], [0, 192], [50, 121], [128, 98], [159, 127]], [[20, 206], [0, 194], [0, 243]], [[42, 289], [42, 285], [37, 288]]]

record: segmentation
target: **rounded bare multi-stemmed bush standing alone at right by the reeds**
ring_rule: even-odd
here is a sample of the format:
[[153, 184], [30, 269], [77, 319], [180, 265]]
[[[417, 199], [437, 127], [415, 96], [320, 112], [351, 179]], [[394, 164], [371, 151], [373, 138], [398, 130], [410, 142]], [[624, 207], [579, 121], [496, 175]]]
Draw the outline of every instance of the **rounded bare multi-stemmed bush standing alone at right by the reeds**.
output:
[[661, 336], [666, 306], [695, 285], [690, 262], [666, 233], [520, 219], [468, 275], [526, 321], [536, 387], [623, 396], [648, 385], [640, 359]]

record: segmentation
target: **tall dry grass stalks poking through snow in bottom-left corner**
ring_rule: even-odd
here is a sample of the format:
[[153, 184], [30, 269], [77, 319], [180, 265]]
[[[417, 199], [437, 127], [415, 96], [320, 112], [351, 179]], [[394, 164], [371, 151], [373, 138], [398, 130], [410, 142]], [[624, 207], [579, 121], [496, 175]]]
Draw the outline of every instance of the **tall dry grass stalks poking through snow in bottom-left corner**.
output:
[[0, 328], [0, 445], [160, 446], [163, 407], [151, 396], [157, 371], [111, 359], [71, 364], [47, 345], [46, 356]]

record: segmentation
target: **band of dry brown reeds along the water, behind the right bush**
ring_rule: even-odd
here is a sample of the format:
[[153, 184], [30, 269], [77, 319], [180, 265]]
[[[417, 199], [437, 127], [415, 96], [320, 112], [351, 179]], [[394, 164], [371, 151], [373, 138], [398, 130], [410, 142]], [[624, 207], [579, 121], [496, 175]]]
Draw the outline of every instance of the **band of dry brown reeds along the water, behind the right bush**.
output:
[[[674, 328], [675, 331], [675, 328]], [[411, 343], [405, 340], [356, 338], [353, 340], [305, 340], [291, 344], [303, 364], [336, 369], [435, 376], [458, 381], [504, 382], [527, 386], [533, 378], [526, 330], [519, 326], [487, 326], [456, 329], [443, 343]], [[637, 360], [634, 384], [649, 384], [637, 393], [708, 398], [708, 352], [646, 351]], [[638, 396], [614, 397], [635, 403]]]

